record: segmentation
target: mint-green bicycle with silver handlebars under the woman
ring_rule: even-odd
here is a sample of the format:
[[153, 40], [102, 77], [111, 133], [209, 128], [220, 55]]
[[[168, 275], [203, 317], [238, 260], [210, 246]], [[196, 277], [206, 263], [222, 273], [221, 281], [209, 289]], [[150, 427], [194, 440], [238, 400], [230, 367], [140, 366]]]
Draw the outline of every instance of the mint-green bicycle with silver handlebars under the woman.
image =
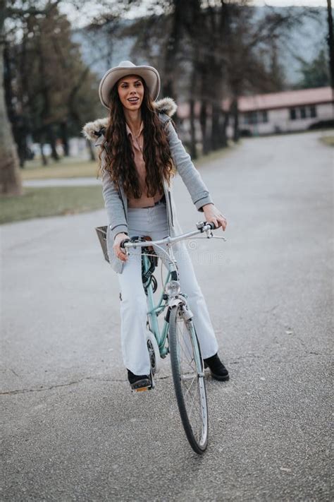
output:
[[[151, 364], [151, 386], [154, 388], [154, 375], [159, 369], [159, 361], [169, 353], [178, 410], [187, 439], [192, 449], [202, 454], [208, 444], [208, 406], [204, 381], [204, 363], [192, 321], [192, 312], [187, 305], [187, 295], [181, 292], [178, 266], [172, 246], [175, 242], [189, 239], [194, 235], [206, 233], [206, 237], [226, 240], [214, 236], [214, 223], [197, 222], [197, 230], [166, 237], [157, 241], [147, 241], [143, 237], [124, 239], [120, 246], [129, 253], [130, 248], [142, 247], [142, 282], [147, 294], [147, 349]], [[149, 246], [148, 246], [149, 244]], [[161, 247], [166, 244], [168, 253]], [[168, 256], [168, 273], [163, 282], [163, 292], [158, 304], [154, 304], [157, 281], [153, 275], [158, 256], [149, 248], [157, 246]], [[158, 317], [167, 309], [163, 328], [160, 330]], [[137, 391], [138, 391], [137, 390]]]

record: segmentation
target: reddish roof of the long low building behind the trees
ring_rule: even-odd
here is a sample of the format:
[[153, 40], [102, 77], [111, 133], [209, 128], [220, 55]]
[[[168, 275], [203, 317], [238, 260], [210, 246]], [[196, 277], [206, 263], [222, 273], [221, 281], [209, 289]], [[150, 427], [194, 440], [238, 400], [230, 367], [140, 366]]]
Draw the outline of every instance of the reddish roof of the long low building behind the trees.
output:
[[[268, 94], [258, 94], [254, 96], [242, 96], [238, 100], [240, 112], [254, 112], [256, 110], [269, 110], [278, 108], [292, 108], [305, 104], [331, 103], [333, 101], [332, 89], [330, 87], [320, 87], [316, 89], [287, 90], [284, 92], [270, 92]], [[223, 101], [223, 109], [230, 107], [230, 100]], [[194, 105], [194, 113], [199, 116], [200, 104]], [[210, 112], [209, 112], [210, 113]], [[185, 119], [190, 115], [188, 103], [178, 106], [178, 115]]]

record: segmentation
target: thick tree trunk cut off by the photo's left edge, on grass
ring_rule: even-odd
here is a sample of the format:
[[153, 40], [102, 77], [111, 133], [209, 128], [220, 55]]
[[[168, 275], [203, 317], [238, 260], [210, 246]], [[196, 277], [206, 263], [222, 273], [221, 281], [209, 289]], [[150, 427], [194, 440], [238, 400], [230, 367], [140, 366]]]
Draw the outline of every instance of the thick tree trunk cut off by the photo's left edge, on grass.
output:
[[4, 95], [4, 2], [0, 4], [0, 193], [1, 195], [21, 195], [22, 182], [18, 167], [18, 154], [8, 121]]

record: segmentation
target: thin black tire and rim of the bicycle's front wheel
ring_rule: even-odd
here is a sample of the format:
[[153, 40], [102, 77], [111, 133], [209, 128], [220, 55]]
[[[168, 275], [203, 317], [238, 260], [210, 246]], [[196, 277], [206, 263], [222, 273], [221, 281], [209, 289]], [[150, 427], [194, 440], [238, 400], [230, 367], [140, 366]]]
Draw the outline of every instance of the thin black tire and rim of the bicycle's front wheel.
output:
[[[183, 333], [185, 334], [184, 336], [180, 335], [180, 325], [182, 325]], [[183, 375], [184, 369], [181, 367], [180, 361], [182, 357], [182, 354], [180, 354], [180, 352], [183, 350], [181, 347], [183, 340], [180, 339], [180, 336], [183, 336], [184, 338], [188, 337], [188, 341], [185, 342], [187, 343], [188, 357], [189, 359], [193, 359], [195, 366], [194, 371], [196, 372], [193, 376], [192, 383], [190, 383], [190, 386], [188, 386], [188, 388], [185, 381], [189, 380], [191, 376], [189, 378], [186, 373]], [[169, 318], [168, 341], [169, 352], [171, 354], [171, 369], [175, 395], [178, 402], [178, 410], [180, 412], [183, 429], [185, 429], [187, 440], [189, 441], [192, 449], [199, 455], [202, 455], [202, 453], [204, 453], [207, 448], [209, 433], [208, 407], [206, 400], [203, 361], [192, 320], [185, 320], [183, 316], [182, 305], [180, 304], [171, 309]], [[195, 355], [196, 351], [198, 357], [196, 357]], [[197, 368], [196, 359], [199, 359], [200, 361], [200, 368]], [[192, 366], [190, 365], [190, 367]], [[202, 376], [199, 376], [198, 373], [202, 373]], [[191, 417], [192, 410], [190, 409], [189, 400], [187, 399], [187, 395], [190, 394], [190, 388], [192, 388], [193, 382], [195, 382], [196, 386], [195, 393], [197, 393], [199, 398], [197, 424], [194, 423], [194, 417]], [[185, 390], [187, 390], [187, 393], [185, 393]], [[192, 404], [193, 403], [194, 398], [192, 400]], [[200, 422], [198, 424], [199, 415]], [[195, 431], [194, 425], [200, 426], [200, 433], [198, 432], [198, 430]]]

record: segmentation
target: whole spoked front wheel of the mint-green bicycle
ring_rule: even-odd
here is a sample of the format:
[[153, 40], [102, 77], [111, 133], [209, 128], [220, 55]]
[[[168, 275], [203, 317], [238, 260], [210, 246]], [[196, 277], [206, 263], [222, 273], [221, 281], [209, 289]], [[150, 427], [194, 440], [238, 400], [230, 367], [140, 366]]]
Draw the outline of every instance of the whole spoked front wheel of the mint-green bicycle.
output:
[[171, 310], [168, 339], [183, 428], [192, 449], [202, 454], [208, 444], [209, 429], [204, 368], [194, 324], [183, 316], [182, 305]]

